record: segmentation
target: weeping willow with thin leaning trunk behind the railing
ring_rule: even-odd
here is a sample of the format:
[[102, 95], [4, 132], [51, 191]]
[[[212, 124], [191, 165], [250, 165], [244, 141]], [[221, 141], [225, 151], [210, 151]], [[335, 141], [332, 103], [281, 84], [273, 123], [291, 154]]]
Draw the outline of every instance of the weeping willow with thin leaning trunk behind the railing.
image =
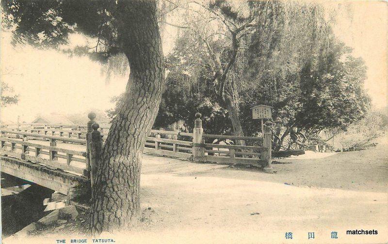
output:
[[228, 111], [235, 135], [241, 136], [240, 93], [254, 88], [261, 76], [286, 72], [278, 67], [297, 72], [327, 38], [323, 9], [315, 3], [282, 1], [192, 4], [198, 10], [186, 10], [183, 24], [174, 25], [180, 32], [167, 67], [199, 83], [208, 80], [207, 89]]

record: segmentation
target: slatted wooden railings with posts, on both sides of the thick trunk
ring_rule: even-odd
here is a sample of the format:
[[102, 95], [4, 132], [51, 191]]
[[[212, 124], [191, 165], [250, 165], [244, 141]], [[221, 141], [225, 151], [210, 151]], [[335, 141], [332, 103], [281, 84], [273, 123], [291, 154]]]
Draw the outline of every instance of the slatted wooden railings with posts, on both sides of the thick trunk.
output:
[[[193, 133], [151, 130], [144, 152], [191, 159], [195, 162], [253, 165], [272, 172], [270, 132], [264, 133], [264, 137], [207, 135], [203, 133], [201, 114], [197, 113], [195, 116]], [[67, 130], [63, 129], [65, 126], [53, 128], [53, 125], [47, 124], [44, 124], [45, 128], [36, 128], [34, 125], [30, 128], [3, 126], [0, 137], [1, 155], [30, 160], [93, 179], [93, 171], [97, 168], [99, 153], [109, 131], [106, 128], [101, 131], [94, 113], [90, 113], [88, 117], [87, 126], [73, 126]], [[255, 141], [260, 146], [205, 143], [206, 138]], [[34, 143], [31, 139], [49, 140], [50, 145]], [[84, 150], [64, 149], [56, 146], [57, 141], [86, 147]]]

